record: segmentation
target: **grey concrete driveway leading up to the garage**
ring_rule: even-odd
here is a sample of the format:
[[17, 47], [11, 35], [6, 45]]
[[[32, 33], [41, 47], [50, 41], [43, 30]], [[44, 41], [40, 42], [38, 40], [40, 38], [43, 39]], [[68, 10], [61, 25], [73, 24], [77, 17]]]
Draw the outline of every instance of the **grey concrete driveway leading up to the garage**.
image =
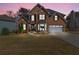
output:
[[61, 32], [61, 33], [50, 33], [49, 35], [57, 36], [62, 40], [67, 41], [70, 44], [74, 45], [75, 47], [79, 48], [79, 35], [77, 34]]

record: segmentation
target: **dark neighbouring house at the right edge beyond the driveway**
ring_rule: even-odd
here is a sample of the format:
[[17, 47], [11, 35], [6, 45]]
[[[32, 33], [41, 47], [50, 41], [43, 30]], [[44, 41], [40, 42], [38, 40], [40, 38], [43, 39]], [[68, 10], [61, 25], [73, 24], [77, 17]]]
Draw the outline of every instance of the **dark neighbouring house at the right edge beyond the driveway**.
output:
[[70, 31], [79, 31], [79, 12], [72, 10], [66, 20], [66, 25]]

